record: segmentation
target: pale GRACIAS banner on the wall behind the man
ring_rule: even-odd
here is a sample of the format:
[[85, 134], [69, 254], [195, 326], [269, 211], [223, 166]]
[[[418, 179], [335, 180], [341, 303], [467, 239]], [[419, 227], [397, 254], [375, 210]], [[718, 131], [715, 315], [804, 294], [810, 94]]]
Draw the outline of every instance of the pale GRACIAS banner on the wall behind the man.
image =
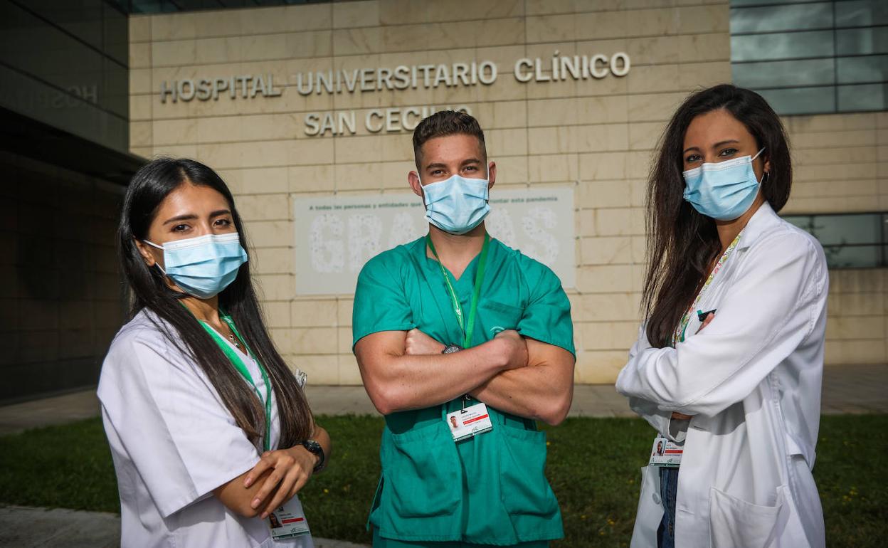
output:
[[[296, 198], [296, 292], [354, 293], [361, 267], [428, 231], [422, 200], [409, 193]], [[488, 232], [549, 266], [575, 287], [574, 187], [494, 190]]]

